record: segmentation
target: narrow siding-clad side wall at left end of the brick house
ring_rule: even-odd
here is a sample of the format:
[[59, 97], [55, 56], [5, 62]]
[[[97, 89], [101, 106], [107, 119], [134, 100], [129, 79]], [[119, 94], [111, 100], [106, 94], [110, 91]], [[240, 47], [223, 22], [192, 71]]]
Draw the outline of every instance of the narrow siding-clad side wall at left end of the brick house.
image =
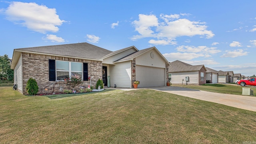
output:
[[18, 90], [22, 92], [22, 56], [14, 68], [14, 82], [18, 84]]

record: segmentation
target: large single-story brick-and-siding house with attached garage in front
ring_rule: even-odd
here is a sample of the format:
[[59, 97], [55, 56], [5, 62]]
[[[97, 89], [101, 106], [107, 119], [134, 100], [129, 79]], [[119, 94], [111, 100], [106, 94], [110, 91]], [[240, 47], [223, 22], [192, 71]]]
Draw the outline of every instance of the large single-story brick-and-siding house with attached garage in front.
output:
[[82, 78], [84, 86], [95, 86], [98, 79], [111, 87], [132, 88], [135, 80], [140, 81], [138, 87], [165, 86], [168, 66], [155, 47], [138, 50], [130, 46], [112, 52], [84, 42], [14, 49], [11, 69], [18, 90], [25, 94], [30, 77], [36, 79], [38, 93], [54, 81], [58, 82], [54, 92], [60, 86], [68, 88], [64, 78], [70, 76]]

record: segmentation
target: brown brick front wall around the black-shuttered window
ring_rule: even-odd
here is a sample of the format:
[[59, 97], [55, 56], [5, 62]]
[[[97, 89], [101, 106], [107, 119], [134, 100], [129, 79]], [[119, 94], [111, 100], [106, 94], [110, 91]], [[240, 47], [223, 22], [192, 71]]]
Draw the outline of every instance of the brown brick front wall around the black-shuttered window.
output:
[[[27, 94], [26, 92], [26, 84], [30, 77], [35, 78], [39, 87], [38, 94], [41, 93], [41, 88], [44, 88], [48, 84], [51, 84], [53, 81], [49, 81], [49, 62], [48, 60], [63, 60], [69, 62], [84, 62], [88, 63], [88, 77], [91, 77], [91, 86], [96, 86], [96, 82], [98, 79], [102, 79], [102, 62], [94, 61], [94, 60], [84, 60], [78, 58], [66, 58], [60, 56], [49, 56], [42, 54], [30, 54], [30, 53], [22, 53], [22, 90], [23, 94]], [[90, 80], [83, 81], [82, 84], [79, 84], [74, 89], [79, 90], [79, 86], [88, 87], [90, 84]], [[60, 86], [63, 87], [64, 90], [71, 90], [70, 86], [66, 85], [66, 82], [60, 81], [54, 87], [54, 92], [59, 92]], [[52, 87], [53, 89], [53, 87]]]

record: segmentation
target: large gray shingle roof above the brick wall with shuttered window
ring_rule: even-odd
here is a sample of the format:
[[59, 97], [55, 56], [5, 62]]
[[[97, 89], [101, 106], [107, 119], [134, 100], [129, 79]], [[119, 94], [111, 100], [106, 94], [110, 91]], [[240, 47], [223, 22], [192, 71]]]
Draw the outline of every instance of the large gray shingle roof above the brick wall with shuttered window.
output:
[[29, 52], [38, 52], [44, 54], [72, 56], [78, 58], [98, 60], [103, 56], [110, 54], [112, 51], [94, 46], [87, 42], [77, 44], [62, 44], [54, 46], [39, 46], [31, 48], [18, 48], [15, 50], [24, 50]]

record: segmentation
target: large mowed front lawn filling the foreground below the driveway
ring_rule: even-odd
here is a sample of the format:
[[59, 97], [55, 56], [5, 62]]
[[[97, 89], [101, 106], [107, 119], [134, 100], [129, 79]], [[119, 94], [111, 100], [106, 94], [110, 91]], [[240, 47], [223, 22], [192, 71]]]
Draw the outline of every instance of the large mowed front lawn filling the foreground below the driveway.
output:
[[50, 99], [0, 88], [0, 143], [244, 142], [256, 142], [256, 112], [148, 89]]

